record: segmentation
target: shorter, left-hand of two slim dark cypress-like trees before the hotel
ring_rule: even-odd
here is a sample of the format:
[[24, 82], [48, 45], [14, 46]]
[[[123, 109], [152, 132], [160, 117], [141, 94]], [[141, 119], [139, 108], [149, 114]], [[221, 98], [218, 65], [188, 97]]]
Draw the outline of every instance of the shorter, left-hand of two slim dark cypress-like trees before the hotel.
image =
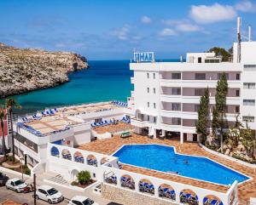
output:
[[201, 134], [201, 142], [205, 144], [208, 135], [209, 123], [209, 89], [205, 89], [205, 94], [201, 96], [198, 109], [198, 120], [196, 122], [196, 132]]

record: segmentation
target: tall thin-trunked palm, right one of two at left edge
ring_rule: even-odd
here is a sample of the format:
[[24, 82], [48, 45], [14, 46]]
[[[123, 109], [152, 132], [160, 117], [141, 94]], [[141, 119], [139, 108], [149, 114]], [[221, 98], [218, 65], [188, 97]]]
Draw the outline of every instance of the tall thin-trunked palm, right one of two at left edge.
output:
[[12, 151], [13, 151], [13, 163], [15, 163], [15, 136], [14, 136], [14, 128], [13, 128], [13, 109], [20, 109], [21, 106], [16, 102], [15, 99], [7, 99], [5, 100], [6, 108], [9, 111], [10, 117], [10, 128], [11, 128], [11, 136], [12, 136]]

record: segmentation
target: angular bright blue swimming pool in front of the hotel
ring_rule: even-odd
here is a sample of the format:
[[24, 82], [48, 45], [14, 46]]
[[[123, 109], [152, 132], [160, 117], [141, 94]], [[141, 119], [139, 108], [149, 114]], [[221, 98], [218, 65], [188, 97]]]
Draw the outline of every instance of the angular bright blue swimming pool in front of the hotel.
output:
[[230, 168], [213, 162], [207, 157], [194, 157], [175, 153], [172, 146], [166, 145], [124, 145], [113, 154], [119, 162], [161, 172], [177, 174], [193, 179], [201, 179], [220, 185], [232, 185], [249, 179]]

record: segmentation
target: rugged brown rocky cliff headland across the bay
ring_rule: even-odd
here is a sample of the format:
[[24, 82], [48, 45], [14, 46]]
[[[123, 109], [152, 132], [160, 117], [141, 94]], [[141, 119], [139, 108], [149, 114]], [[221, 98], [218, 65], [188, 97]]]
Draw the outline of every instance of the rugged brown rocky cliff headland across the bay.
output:
[[70, 52], [14, 48], [0, 43], [0, 98], [68, 81], [67, 74], [88, 68], [87, 60]]

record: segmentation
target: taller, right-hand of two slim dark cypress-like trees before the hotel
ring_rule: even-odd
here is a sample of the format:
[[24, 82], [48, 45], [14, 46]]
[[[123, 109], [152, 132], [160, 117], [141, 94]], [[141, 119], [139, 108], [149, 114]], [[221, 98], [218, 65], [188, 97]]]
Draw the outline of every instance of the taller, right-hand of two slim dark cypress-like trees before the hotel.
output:
[[[224, 128], [227, 128], [226, 111], [227, 111], [227, 99], [228, 94], [228, 82], [225, 73], [223, 73], [218, 80], [216, 95], [215, 95], [215, 110], [216, 117], [218, 116], [218, 122], [214, 122], [219, 128], [220, 137], [220, 150], [223, 152], [223, 141], [224, 141]], [[213, 121], [213, 120], [212, 120]]]

